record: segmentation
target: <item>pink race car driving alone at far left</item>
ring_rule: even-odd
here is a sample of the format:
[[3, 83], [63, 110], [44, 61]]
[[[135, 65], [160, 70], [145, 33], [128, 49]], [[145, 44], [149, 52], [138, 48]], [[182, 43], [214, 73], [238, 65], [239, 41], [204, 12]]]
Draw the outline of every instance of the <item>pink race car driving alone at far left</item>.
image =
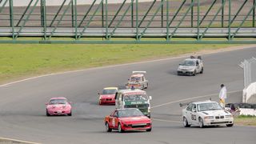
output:
[[50, 98], [50, 102], [46, 103], [46, 115], [72, 115], [72, 107], [70, 102], [64, 97]]

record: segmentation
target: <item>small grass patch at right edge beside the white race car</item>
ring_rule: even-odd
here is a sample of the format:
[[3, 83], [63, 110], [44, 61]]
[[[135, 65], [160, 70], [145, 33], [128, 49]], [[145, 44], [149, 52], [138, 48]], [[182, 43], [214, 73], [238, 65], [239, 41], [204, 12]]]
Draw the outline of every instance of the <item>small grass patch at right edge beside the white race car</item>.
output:
[[243, 126], [256, 126], [256, 116], [239, 115], [237, 118], [234, 118], [234, 123]]

